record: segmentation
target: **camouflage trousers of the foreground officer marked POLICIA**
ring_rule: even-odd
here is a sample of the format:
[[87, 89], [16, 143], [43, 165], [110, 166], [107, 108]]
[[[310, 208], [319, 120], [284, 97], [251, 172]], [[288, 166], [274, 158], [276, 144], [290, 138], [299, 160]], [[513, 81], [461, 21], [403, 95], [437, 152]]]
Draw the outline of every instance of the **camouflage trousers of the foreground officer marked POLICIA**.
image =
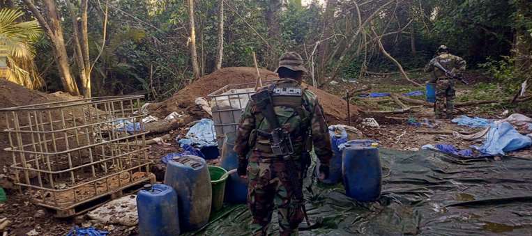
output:
[[[284, 162], [253, 162], [248, 165], [248, 207], [253, 217], [253, 235], [266, 235], [274, 207], [278, 210], [280, 235], [298, 235], [303, 221], [301, 200], [294, 197], [294, 186], [287, 171], [295, 171], [303, 182], [301, 164], [287, 170]], [[300, 189], [301, 190], [301, 189]]]

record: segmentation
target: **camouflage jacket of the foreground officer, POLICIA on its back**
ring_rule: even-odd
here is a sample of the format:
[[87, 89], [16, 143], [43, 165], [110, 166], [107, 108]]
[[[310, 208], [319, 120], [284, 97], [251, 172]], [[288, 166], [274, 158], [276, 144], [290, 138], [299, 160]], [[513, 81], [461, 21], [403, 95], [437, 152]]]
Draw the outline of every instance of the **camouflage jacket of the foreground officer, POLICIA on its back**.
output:
[[[307, 148], [312, 148], [310, 144], [313, 144], [314, 152], [316, 152], [320, 162], [328, 164], [332, 156], [330, 137], [323, 109], [319, 105], [316, 95], [291, 79], [277, 82], [273, 87], [268, 86], [263, 89], [271, 89], [275, 114], [280, 125], [289, 131], [291, 136], [294, 146], [293, 158], [301, 157], [301, 153]], [[290, 104], [290, 101], [299, 103], [299, 105], [294, 106], [294, 104]], [[250, 100], [238, 125], [234, 147], [238, 157], [245, 159], [249, 152], [251, 152], [251, 162], [257, 162], [261, 158], [275, 157], [271, 152], [268, 137], [260, 135], [271, 131], [266, 118]]]

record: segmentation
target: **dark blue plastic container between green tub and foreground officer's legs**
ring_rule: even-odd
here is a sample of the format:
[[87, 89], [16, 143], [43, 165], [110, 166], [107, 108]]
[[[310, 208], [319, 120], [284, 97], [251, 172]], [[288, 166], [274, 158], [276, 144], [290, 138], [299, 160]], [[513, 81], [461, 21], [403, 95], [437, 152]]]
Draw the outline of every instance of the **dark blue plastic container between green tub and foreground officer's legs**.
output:
[[236, 173], [236, 168], [227, 172], [229, 177], [225, 183], [226, 203], [243, 204], [248, 202], [248, 180], [244, 180]]

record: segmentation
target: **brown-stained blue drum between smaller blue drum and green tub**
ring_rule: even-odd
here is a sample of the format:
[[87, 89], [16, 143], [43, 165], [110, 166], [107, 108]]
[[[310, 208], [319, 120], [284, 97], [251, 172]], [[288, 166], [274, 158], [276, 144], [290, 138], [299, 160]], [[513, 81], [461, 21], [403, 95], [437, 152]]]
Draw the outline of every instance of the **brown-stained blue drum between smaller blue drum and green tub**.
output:
[[165, 184], [176, 190], [181, 232], [205, 226], [213, 198], [211, 175], [205, 160], [190, 155], [170, 160]]

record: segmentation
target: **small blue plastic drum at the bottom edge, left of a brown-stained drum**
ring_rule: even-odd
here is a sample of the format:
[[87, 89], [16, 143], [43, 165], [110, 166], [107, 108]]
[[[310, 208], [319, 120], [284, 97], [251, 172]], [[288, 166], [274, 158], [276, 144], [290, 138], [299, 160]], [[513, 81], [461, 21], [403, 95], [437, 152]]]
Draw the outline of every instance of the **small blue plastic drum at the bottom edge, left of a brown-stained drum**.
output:
[[177, 194], [165, 184], [146, 184], [137, 195], [139, 234], [179, 235]]

